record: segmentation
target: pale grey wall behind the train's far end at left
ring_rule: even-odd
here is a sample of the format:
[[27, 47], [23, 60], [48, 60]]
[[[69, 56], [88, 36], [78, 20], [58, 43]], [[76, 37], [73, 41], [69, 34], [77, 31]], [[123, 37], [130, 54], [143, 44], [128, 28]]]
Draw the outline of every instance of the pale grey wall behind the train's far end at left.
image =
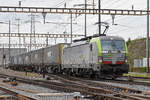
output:
[[[10, 56], [15, 56], [27, 52], [26, 48], [10, 48]], [[4, 58], [5, 55], [5, 58]], [[0, 48], [0, 66], [8, 64], [9, 61], [9, 48]]]

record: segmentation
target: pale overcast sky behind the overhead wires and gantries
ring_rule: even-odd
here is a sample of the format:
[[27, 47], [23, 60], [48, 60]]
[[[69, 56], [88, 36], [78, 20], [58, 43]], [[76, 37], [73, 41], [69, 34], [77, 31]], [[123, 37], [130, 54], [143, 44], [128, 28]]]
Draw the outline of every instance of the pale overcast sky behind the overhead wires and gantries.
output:
[[[20, 0], [0, 0], [0, 6], [18, 6]], [[97, 0], [87, 0], [88, 4], [92, 4], [95, 1], [95, 8], [98, 8]], [[67, 7], [73, 7], [75, 4], [83, 4], [84, 0], [22, 0], [23, 7], [64, 7], [66, 3]], [[132, 5], [136, 10], [146, 10], [146, 0], [101, 0], [102, 9], [132, 9]], [[80, 7], [82, 8], [82, 7]], [[88, 8], [91, 8], [89, 6]], [[1, 13], [0, 21], [7, 22], [11, 20], [11, 23], [17, 24], [15, 19], [21, 19], [20, 32], [30, 32], [30, 14], [17, 14], [17, 13]], [[61, 24], [43, 24], [42, 14], [36, 14], [35, 31], [37, 33], [51, 33], [51, 34], [62, 34], [66, 31], [70, 33], [70, 25]], [[92, 35], [98, 33], [98, 26], [95, 23], [98, 20], [97, 15], [87, 15], [87, 34]], [[70, 15], [64, 14], [47, 14], [47, 22], [70, 22]], [[135, 39], [146, 36], [146, 16], [115, 16], [115, 24], [112, 25], [112, 18], [110, 15], [102, 15], [102, 22], [109, 23], [109, 30], [107, 35], [117, 35], [124, 37], [125, 40], [128, 38]], [[84, 15], [76, 17], [73, 15], [73, 33], [84, 34]], [[105, 29], [102, 26], [102, 32]], [[2, 32], [8, 32], [7, 24], [0, 24], [0, 30]], [[17, 32], [17, 26], [11, 25], [11, 32]], [[13, 39], [12, 39], [13, 40]], [[63, 39], [58, 40], [63, 42]], [[57, 41], [57, 42], [58, 42]], [[6, 39], [0, 39], [0, 42], [8, 42]], [[14, 43], [18, 43], [17, 39], [13, 40]], [[22, 40], [23, 42], [23, 40]], [[28, 42], [28, 40], [26, 41]], [[37, 41], [40, 42], [41, 41]], [[43, 40], [43, 43], [45, 40]], [[50, 42], [54, 43], [54, 39], [50, 39]]]

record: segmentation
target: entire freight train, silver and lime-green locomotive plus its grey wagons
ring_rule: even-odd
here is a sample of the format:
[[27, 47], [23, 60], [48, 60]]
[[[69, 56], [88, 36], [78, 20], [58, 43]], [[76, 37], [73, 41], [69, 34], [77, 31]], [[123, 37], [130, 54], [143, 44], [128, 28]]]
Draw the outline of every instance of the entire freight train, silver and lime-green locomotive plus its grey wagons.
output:
[[116, 78], [128, 73], [128, 50], [121, 37], [99, 36], [57, 44], [11, 57], [13, 69]]

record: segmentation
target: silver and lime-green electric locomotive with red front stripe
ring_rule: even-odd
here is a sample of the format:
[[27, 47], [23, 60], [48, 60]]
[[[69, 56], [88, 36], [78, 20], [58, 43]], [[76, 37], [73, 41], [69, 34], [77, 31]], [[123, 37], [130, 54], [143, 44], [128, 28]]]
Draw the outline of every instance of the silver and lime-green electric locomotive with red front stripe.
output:
[[128, 49], [117, 36], [88, 37], [63, 49], [62, 70], [66, 74], [116, 78], [128, 73]]

